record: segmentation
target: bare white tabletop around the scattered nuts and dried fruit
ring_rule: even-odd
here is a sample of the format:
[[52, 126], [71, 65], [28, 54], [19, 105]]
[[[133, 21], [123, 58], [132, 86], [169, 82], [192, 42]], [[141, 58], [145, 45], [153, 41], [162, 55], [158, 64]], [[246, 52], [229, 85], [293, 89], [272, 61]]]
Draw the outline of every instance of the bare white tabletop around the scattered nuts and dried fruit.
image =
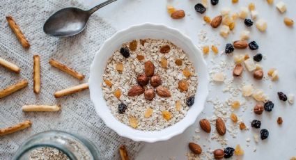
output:
[[[86, 6], [95, 6], [101, 1], [93, 0], [79, 0], [85, 3]], [[209, 0], [210, 1], [210, 0]], [[275, 3], [279, 0], [274, 0]], [[171, 3], [176, 8], [185, 10], [187, 16], [184, 19], [175, 20], [171, 19], [166, 13], [166, 4]], [[219, 50], [223, 50], [226, 42], [231, 42], [237, 40], [240, 37], [240, 31], [242, 29], [247, 29], [241, 19], [237, 20], [237, 26], [235, 27], [235, 33], [231, 34], [228, 38], [224, 39], [219, 36], [219, 29], [211, 29], [208, 25], [203, 25], [202, 16], [197, 14], [194, 10], [194, 5], [198, 3], [197, 0], [118, 0], [115, 3], [110, 4], [100, 10], [96, 14], [102, 16], [109, 23], [112, 24], [117, 30], [125, 29], [133, 24], [141, 24], [143, 22], [153, 22], [166, 24], [168, 26], [180, 29], [180, 31], [189, 35], [192, 38], [194, 44], [199, 45], [198, 32], [201, 29], [208, 32], [210, 45], [211, 40], [214, 42], [219, 42]], [[215, 7], [208, 8], [204, 15], [210, 15], [213, 17], [219, 14], [219, 10], [223, 7], [230, 7], [231, 11], [234, 12], [239, 10], [240, 6], [247, 6], [250, 1], [240, 0], [239, 3], [233, 5], [231, 0], [220, 1]], [[251, 29], [251, 40], [256, 40], [260, 49], [258, 52], [266, 55], [266, 59], [260, 62], [263, 65], [263, 70], [265, 73], [270, 67], [276, 67], [279, 70], [280, 80], [276, 82], [272, 81], [254, 81], [251, 74], [247, 72], [244, 73], [243, 77], [247, 83], [253, 83], [256, 88], [262, 88], [269, 95], [270, 99], [275, 104], [274, 110], [271, 113], [263, 113], [263, 115], [254, 115], [251, 113], [253, 109], [254, 100], [250, 99], [248, 104], [248, 109], [244, 113], [242, 111], [237, 111], [237, 115], [242, 115], [244, 122], [247, 126], [250, 126], [249, 120], [254, 118], [261, 120], [262, 127], [270, 131], [270, 137], [265, 141], [259, 141], [259, 143], [254, 143], [253, 134], [259, 133], [258, 129], [249, 129], [248, 131], [238, 131], [237, 138], [231, 138], [226, 134], [228, 138], [228, 144], [234, 147], [236, 144], [242, 145], [245, 154], [241, 159], [290, 159], [290, 157], [296, 157], [296, 125], [295, 125], [295, 105], [291, 106], [288, 102], [280, 102], [276, 92], [282, 90], [284, 93], [296, 93], [296, 32], [294, 28], [288, 28], [283, 24], [283, 17], [292, 17], [296, 19], [296, 3], [294, 0], [285, 0], [287, 4], [288, 11], [284, 14], [280, 14], [275, 8], [275, 4], [270, 6], [267, 4], [266, 0], [254, 1], [256, 4], [256, 10], [259, 12], [259, 17], [267, 21], [268, 29], [265, 33], [260, 33], [255, 26]], [[241, 53], [249, 53], [253, 56], [257, 51], [250, 51], [249, 49], [245, 51], [240, 51]], [[219, 62], [219, 59], [227, 57], [225, 55], [219, 56], [219, 58], [214, 58], [214, 61]], [[232, 58], [232, 57], [228, 57]], [[209, 65], [211, 56], [205, 58]], [[231, 72], [225, 71], [228, 77], [231, 76]], [[270, 85], [272, 88], [270, 88]], [[219, 88], [221, 85], [215, 85], [211, 88], [217, 86], [217, 92], [210, 93], [210, 97], [219, 97], [221, 101], [230, 97], [228, 93], [222, 93]], [[240, 96], [239, 96], [240, 97]], [[172, 138], [169, 141], [159, 142], [159, 143], [147, 143], [143, 150], [139, 153], [137, 159], [169, 159], [170, 157], [175, 157], [176, 159], [187, 159], [185, 153], [189, 152], [187, 144], [192, 141], [192, 136], [196, 135], [194, 130], [199, 129], [197, 124], [198, 120], [204, 117], [210, 117], [213, 114], [212, 104], [205, 104], [204, 114], [201, 114], [196, 120], [196, 124], [189, 127], [183, 134]], [[278, 116], [283, 117], [283, 125], [279, 127], [276, 124], [276, 118]], [[212, 130], [213, 126], [212, 126]], [[201, 131], [201, 139], [198, 144], [205, 144], [206, 148], [211, 147], [216, 149], [221, 147], [216, 141], [211, 141], [210, 143], [206, 141], [209, 138], [209, 134], [204, 134]], [[247, 147], [246, 139], [251, 138], [250, 146]], [[256, 152], [254, 148], [256, 147]], [[237, 159], [237, 157], [233, 157]]]

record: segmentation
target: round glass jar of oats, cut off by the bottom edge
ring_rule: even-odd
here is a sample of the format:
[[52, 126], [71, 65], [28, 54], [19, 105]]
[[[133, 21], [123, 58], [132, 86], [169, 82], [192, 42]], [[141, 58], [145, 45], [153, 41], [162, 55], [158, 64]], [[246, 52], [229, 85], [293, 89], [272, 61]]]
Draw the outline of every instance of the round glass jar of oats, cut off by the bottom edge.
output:
[[45, 149], [50, 150], [49, 157], [58, 156], [56, 154], [59, 153], [63, 159], [71, 160], [97, 160], [99, 155], [95, 145], [86, 138], [65, 131], [51, 130], [36, 134], [25, 141], [15, 153], [13, 160], [28, 160], [34, 157], [43, 159], [34, 154], [42, 155], [42, 150]]

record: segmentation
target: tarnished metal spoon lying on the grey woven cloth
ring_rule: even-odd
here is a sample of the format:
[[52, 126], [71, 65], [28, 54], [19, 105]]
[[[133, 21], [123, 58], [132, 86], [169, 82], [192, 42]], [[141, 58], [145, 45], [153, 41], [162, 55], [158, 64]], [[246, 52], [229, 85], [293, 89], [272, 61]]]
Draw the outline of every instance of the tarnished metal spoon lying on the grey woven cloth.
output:
[[47, 35], [68, 37], [84, 31], [88, 18], [98, 9], [117, 0], [108, 0], [90, 10], [79, 8], [63, 8], [50, 16], [43, 26]]

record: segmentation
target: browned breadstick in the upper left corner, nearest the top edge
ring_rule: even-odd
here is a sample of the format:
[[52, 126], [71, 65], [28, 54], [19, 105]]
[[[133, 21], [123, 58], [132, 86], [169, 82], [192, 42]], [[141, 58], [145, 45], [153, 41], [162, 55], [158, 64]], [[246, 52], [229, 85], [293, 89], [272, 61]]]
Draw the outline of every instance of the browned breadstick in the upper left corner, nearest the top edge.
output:
[[20, 27], [17, 26], [17, 24], [13, 20], [13, 17], [8, 15], [8, 16], [6, 16], [6, 20], [9, 24], [10, 28], [13, 30], [13, 33], [15, 33], [15, 35], [17, 36], [17, 39], [22, 44], [22, 47], [24, 47], [25, 49], [28, 49], [30, 47], [30, 44], [29, 44], [28, 40], [26, 40], [26, 37], [24, 37], [24, 34], [20, 30]]

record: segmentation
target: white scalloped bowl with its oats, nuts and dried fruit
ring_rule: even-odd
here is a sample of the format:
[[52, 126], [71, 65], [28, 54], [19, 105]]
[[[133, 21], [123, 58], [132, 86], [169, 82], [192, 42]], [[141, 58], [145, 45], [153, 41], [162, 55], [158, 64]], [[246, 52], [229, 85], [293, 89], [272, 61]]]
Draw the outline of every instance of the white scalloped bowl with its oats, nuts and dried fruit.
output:
[[106, 40], [91, 64], [91, 100], [100, 118], [134, 141], [181, 134], [203, 110], [206, 63], [186, 35], [162, 24], [140, 24]]

